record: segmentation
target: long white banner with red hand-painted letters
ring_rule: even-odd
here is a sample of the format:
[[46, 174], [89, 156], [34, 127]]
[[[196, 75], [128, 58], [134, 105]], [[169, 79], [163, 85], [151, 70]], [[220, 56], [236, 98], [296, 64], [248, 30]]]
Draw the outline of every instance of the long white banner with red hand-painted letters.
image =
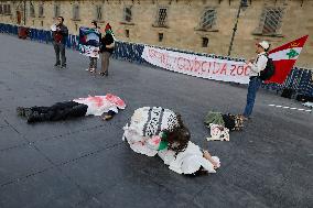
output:
[[176, 73], [214, 80], [249, 83], [250, 67], [245, 62], [227, 61], [144, 46], [148, 63]]

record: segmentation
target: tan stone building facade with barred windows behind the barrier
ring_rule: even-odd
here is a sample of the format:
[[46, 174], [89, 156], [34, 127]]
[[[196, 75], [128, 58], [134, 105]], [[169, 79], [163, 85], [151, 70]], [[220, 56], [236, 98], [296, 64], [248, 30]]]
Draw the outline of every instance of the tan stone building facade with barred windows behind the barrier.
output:
[[0, 0], [0, 22], [48, 30], [63, 15], [72, 34], [97, 20], [118, 40], [201, 53], [255, 56], [255, 43], [272, 46], [311, 35], [298, 66], [313, 68], [312, 0]]

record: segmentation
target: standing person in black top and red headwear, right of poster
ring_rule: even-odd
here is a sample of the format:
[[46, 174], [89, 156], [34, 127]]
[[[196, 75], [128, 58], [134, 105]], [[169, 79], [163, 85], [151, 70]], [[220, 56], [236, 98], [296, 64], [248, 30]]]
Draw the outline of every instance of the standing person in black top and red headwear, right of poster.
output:
[[111, 26], [108, 23], [105, 29], [106, 35], [101, 39], [101, 72], [99, 73], [101, 76], [108, 76], [109, 68], [109, 59], [115, 50], [115, 39], [112, 36]]

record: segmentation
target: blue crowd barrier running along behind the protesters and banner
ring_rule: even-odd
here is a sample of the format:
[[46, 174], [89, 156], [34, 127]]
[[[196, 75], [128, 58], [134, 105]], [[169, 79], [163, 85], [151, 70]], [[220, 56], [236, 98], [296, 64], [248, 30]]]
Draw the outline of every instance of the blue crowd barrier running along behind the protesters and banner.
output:
[[[0, 33], [18, 35], [18, 29], [19, 26], [17, 25], [0, 23]], [[45, 31], [45, 30], [40, 30], [40, 29], [30, 29], [29, 39], [32, 41], [37, 41], [37, 42], [48, 44], [52, 42], [52, 33], [51, 31]], [[66, 46], [67, 48], [78, 51], [78, 42], [79, 42], [79, 37], [77, 35], [69, 34], [66, 41]], [[144, 48], [144, 44], [117, 41], [116, 50], [114, 52], [112, 57], [117, 59], [125, 59], [125, 61], [133, 62], [137, 64], [148, 64], [141, 57], [143, 48]], [[194, 53], [191, 51], [182, 51], [177, 48], [166, 48], [166, 47], [160, 47], [160, 48], [186, 53], [186, 54], [194, 54], [194, 55], [199, 55], [199, 56], [222, 58], [222, 59], [244, 61], [242, 58], [217, 56], [214, 54]], [[299, 95], [313, 97], [313, 70], [306, 69], [306, 68], [294, 67], [282, 85], [265, 84], [262, 85], [262, 88], [273, 90], [277, 92], [282, 91], [285, 88], [289, 88], [289, 89], [293, 89]]]

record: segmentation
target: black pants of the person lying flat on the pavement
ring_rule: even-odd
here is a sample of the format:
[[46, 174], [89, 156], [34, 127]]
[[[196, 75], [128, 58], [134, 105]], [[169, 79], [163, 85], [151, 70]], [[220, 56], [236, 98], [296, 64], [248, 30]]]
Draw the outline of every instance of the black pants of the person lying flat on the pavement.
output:
[[74, 101], [56, 102], [51, 107], [32, 107], [29, 122], [58, 121], [68, 118], [84, 117], [88, 106]]

